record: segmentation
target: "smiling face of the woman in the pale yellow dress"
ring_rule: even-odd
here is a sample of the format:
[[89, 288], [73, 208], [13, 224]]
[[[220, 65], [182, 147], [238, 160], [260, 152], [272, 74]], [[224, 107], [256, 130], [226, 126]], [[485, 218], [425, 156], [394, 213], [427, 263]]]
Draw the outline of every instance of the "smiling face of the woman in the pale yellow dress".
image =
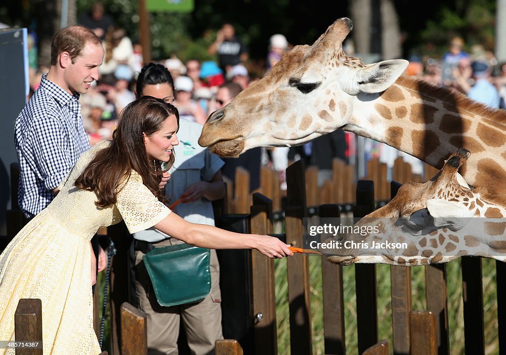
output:
[[175, 115], [168, 116], [165, 119], [161, 129], [151, 135], [144, 134], [144, 144], [146, 153], [150, 159], [168, 162], [171, 158], [172, 149], [179, 144], [176, 131], [178, 130], [178, 121]]

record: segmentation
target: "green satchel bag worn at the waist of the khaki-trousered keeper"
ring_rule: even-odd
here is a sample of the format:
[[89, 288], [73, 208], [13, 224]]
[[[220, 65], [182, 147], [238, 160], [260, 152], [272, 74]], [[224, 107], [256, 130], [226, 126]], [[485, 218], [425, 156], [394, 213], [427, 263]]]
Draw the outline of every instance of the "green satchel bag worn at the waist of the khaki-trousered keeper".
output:
[[211, 290], [210, 250], [189, 244], [154, 248], [143, 257], [160, 306], [197, 301]]

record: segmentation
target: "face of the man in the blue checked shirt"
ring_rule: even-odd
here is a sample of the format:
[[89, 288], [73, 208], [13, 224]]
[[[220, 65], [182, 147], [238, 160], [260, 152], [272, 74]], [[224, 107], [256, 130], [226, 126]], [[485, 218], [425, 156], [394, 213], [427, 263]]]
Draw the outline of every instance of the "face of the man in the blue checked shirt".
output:
[[[62, 53], [61, 56], [65, 56]], [[101, 44], [88, 43], [81, 52], [81, 55], [74, 58], [74, 63], [67, 58], [65, 63], [64, 81], [65, 88], [70, 94], [73, 92], [87, 93], [92, 82], [98, 80], [98, 67], [104, 60], [104, 48]]]

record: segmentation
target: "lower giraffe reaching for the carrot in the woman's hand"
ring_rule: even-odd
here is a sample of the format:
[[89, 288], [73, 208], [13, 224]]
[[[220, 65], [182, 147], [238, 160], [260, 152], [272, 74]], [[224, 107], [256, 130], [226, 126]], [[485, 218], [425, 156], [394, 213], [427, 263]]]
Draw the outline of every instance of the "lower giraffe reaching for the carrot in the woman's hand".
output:
[[465, 255], [506, 261], [506, 200], [459, 177], [469, 155], [459, 149], [431, 180], [402, 185], [387, 205], [358, 221], [353, 232], [326, 239], [320, 251], [341, 265], [419, 266]]

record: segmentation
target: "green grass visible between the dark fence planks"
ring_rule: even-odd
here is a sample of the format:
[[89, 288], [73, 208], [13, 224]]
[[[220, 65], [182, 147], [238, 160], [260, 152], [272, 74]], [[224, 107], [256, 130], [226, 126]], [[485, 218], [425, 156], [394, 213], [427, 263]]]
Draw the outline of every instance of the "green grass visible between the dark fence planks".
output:
[[[313, 354], [324, 354], [322, 275], [320, 258], [309, 257], [310, 297]], [[495, 261], [483, 259], [485, 353], [498, 354], [497, 296], [495, 283]], [[376, 265], [378, 340], [388, 339], [392, 347], [392, 307], [390, 288], [390, 266]], [[450, 353], [464, 353], [462, 276], [460, 259], [446, 264], [448, 293], [448, 326], [450, 329]], [[357, 313], [355, 294], [355, 267], [343, 267], [345, 299], [345, 336], [348, 354], [357, 354]], [[424, 267], [411, 268], [412, 310], [426, 310]], [[276, 321], [278, 328], [278, 354], [290, 355], [290, 325], [288, 311], [288, 282], [286, 259], [275, 261]]]

